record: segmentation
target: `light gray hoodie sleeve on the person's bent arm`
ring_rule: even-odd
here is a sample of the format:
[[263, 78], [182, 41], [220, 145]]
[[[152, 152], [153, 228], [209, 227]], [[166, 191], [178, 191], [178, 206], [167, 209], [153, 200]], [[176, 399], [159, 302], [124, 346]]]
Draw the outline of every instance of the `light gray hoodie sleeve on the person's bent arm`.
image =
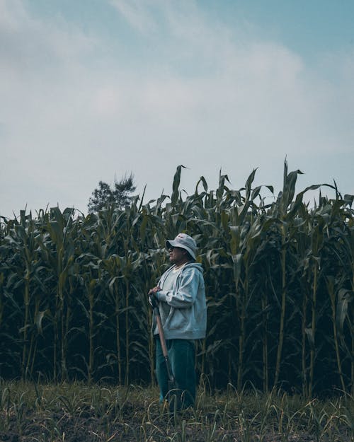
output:
[[200, 284], [199, 269], [185, 269], [179, 275], [180, 281], [176, 290], [160, 290], [157, 292], [159, 301], [166, 302], [174, 308], [189, 308], [197, 298]]

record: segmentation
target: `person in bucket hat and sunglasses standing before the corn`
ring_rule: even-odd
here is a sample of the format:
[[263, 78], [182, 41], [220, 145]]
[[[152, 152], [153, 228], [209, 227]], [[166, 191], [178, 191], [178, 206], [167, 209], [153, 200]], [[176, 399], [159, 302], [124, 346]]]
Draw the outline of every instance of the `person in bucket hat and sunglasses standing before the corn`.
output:
[[[197, 245], [190, 235], [179, 233], [174, 240], [166, 240], [166, 249], [173, 265], [149, 291], [149, 296], [159, 301], [172, 373], [176, 388], [181, 391], [182, 407], [187, 408], [195, 402], [195, 340], [205, 337], [207, 327], [205, 285], [202, 266], [195, 262]], [[152, 329], [158, 338], [155, 320]], [[162, 402], [169, 388], [159, 339], [156, 339], [156, 376]]]

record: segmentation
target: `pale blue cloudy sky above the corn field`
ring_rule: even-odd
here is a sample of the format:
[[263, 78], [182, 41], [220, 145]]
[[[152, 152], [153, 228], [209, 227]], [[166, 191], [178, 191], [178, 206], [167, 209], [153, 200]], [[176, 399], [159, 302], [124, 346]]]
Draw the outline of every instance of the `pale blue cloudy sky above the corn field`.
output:
[[255, 168], [276, 194], [285, 158], [297, 191], [354, 194], [353, 23], [353, 0], [0, 0], [0, 216], [86, 214], [130, 173], [148, 202], [178, 165], [185, 194]]

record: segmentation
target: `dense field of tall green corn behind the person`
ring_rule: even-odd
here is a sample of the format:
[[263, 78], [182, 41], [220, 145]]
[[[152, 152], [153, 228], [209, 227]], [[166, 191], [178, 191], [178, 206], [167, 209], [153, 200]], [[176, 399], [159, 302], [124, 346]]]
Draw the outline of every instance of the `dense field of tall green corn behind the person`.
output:
[[[169, 267], [166, 238], [186, 232], [205, 269], [207, 337], [200, 380], [212, 390], [252, 385], [307, 397], [354, 385], [353, 196], [253, 186], [195, 192], [84, 216], [54, 207], [0, 223], [0, 377], [152, 384], [147, 292]], [[265, 198], [262, 192], [273, 194]], [[270, 200], [270, 202], [268, 202]]]

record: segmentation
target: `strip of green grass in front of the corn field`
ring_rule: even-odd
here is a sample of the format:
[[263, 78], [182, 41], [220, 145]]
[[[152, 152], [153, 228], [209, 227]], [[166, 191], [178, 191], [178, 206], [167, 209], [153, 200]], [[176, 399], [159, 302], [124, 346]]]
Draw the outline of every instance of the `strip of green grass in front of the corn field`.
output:
[[210, 395], [169, 416], [156, 388], [0, 383], [0, 440], [31, 442], [349, 442], [350, 397], [304, 400], [280, 391]]

